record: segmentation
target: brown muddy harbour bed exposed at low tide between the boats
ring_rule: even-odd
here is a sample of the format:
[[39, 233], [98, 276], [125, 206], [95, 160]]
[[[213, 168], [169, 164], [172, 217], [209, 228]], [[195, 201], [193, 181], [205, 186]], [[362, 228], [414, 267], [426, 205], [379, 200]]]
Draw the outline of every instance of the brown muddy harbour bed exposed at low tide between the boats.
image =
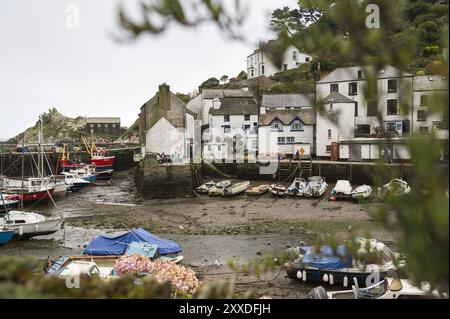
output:
[[178, 242], [183, 248], [183, 264], [192, 267], [203, 281], [231, 280], [238, 292], [254, 289], [273, 298], [302, 298], [314, 286], [290, 280], [284, 270], [247, 275], [231, 271], [227, 261], [240, 264], [259, 259], [300, 242], [311, 243], [316, 235], [345, 238], [350, 230], [382, 239], [395, 248], [394, 232], [382, 228], [366, 212], [373, 204], [328, 201], [332, 187], [320, 199], [241, 194], [141, 201], [132, 171], [115, 172], [112, 186], [89, 186], [58, 200], [56, 208], [51, 203], [34, 208], [46, 216], [62, 214], [64, 229], [10, 242], [0, 248], [0, 254], [39, 259], [78, 255], [94, 236], [142, 227]]

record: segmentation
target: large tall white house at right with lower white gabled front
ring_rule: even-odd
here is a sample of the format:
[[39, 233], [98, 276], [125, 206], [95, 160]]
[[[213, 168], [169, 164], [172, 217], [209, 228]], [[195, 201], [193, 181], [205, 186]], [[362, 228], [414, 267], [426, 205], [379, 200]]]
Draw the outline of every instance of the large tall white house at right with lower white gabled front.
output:
[[[369, 75], [374, 78], [370, 83], [376, 83], [372, 88], [368, 86]], [[360, 161], [384, 154], [391, 159], [408, 159], [402, 139], [412, 133], [412, 86], [412, 74], [391, 66], [378, 72], [372, 67], [337, 68], [318, 81], [317, 102], [336, 117], [338, 124], [345, 125], [338, 129], [325, 119], [327, 113], [317, 115], [317, 156], [334, 154]], [[369, 89], [376, 98], [366, 98]], [[338, 150], [332, 151], [332, 147]]]

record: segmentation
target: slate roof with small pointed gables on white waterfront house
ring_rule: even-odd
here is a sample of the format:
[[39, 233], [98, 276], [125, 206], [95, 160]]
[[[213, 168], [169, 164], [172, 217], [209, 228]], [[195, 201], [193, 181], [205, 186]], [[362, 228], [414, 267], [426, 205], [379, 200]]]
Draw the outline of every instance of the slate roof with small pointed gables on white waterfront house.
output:
[[280, 120], [284, 125], [289, 125], [298, 118], [305, 125], [316, 124], [316, 112], [313, 108], [302, 110], [274, 110], [266, 109], [266, 114], [259, 115], [258, 125], [270, 125], [275, 119]]

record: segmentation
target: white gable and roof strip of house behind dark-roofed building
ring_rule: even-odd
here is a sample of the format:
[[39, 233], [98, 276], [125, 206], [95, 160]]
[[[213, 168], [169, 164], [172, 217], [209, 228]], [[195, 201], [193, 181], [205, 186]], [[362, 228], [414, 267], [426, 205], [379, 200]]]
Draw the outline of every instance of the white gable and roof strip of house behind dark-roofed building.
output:
[[233, 89], [203, 89], [200, 94], [190, 100], [186, 107], [197, 114], [197, 120], [201, 125], [209, 124], [209, 110], [220, 103], [220, 99], [227, 97], [253, 97], [252, 93], [245, 90]]

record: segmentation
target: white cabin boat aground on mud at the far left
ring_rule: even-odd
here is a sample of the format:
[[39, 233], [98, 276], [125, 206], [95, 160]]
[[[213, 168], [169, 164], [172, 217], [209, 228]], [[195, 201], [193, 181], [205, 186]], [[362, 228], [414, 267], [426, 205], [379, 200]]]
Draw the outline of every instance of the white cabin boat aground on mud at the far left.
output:
[[8, 227], [17, 236], [29, 239], [35, 236], [53, 234], [64, 223], [62, 217], [45, 217], [37, 213], [12, 210], [0, 217], [0, 227]]

